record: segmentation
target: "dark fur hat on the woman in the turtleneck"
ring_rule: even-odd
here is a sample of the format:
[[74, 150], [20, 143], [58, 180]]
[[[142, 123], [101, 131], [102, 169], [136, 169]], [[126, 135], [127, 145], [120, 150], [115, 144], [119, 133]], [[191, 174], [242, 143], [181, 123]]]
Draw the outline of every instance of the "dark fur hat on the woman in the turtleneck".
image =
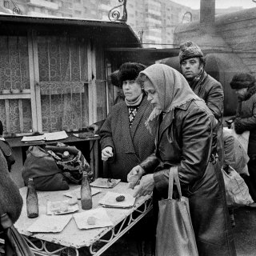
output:
[[121, 84], [126, 80], [135, 80], [138, 78], [139, 72], [145, 69], [146, 66], [137, 62], [126, 62], [122, 64], [119, 69], [119, 80]]

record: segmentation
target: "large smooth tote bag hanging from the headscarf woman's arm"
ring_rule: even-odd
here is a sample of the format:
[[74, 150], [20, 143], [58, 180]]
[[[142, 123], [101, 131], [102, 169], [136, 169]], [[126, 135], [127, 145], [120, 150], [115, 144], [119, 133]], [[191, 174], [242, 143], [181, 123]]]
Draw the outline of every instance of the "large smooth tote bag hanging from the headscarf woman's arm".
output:
[[[178, 188], [178, 199], [172, 198], [174, 181]], [[159, 201], [158, 206], [155, 255], [198, 256], [189, 201], [182, 197], [177, 166], [170, 168], [168, 198]]]

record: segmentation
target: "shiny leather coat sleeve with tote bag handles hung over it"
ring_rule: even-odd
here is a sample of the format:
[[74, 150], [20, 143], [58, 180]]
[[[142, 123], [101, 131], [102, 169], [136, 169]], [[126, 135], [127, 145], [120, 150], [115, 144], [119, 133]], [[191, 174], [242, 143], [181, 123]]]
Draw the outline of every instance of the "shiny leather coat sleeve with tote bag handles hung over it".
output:
[[[193, 185], [202, 178], [208, 164], [211, 150], [214, 117], [199, 108], [193, 109], [183, 119], [182, 156], [178, 165], [181, 185]], [[154, 173], [154, 182], [160, 192], [168, 187], [169, 170]]]

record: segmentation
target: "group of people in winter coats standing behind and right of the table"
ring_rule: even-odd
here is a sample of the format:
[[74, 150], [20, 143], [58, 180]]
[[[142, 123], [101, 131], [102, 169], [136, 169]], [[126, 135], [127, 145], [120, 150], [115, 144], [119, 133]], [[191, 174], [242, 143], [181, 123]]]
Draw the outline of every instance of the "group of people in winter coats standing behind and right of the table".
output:
[[[134, 62], [124, 63], [114, 73], [124, 98], [118, 98], [100, 131], [102, 160], [112, 178], [130, 182], [132, 188], [139, 183], [134, 197], [153, 193], [154, 202], [166, 198], [169, 170], [178, 168], [182, 194], [190, 202], [198, 254], [233, 256], [230, 214], [234, 216], [232, 210], [228, 214], [222, 168], [230, 164], [243, 169], [249, 157], [250, 176], [243, 178], [256, 200], [255, 78], [235, 74], [230, 81], [238, 95], [234, 130], [237, 134], [250, 130], [245, 152], [223, 134], [224, 92], [221, 83], [206, 73], [200, 47], [182, 43], [179, 62], [182, 74], [164, 64], [145, 67]], [[227, 160], [231, 154], [233, 162]], [[155, 203], [153, 222], [157, 208]]]

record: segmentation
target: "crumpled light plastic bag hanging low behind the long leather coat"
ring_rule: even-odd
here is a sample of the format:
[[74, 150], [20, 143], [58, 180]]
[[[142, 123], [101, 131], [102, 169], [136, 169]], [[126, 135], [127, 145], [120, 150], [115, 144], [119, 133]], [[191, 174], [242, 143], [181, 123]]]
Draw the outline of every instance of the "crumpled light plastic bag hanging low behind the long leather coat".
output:
[[222, 174], [225, 183], [227, 206], [248, 206], [250, 203], [254, 202], [249, 194], [246, 182], [238, 172], [229, 166], [227, 172], [222, 169]]

